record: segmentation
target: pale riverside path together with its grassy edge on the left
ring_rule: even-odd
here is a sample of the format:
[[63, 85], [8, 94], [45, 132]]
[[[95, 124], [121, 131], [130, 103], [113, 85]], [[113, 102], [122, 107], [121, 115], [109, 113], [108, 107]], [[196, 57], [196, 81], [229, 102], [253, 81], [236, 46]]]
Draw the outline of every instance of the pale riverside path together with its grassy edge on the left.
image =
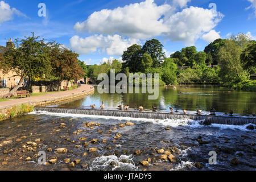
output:
[[34, 106], [54, 104], [55, 102], [70, 100], [81, 96], [88, 96], [93, 93], [94, 86], [81, 85], [80, 88], [75, 90], [3, 101], [0, 103], [0, 121], [28, 113], [34, 109]]

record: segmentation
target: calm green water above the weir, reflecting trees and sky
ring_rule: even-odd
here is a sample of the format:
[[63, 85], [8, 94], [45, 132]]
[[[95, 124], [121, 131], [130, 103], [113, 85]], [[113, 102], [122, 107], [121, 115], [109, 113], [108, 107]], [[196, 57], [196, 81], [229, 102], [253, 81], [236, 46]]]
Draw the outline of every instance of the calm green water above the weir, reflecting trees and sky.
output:
[[148, 94], [99, 94], [97, 87], [92, 96], [85, 97], [81, 100], [70, 102], [62, 106], [85, 107], [95, 104], [100, 106], [102, 101], [106, 108], [112, 109], [121, 105], [129, 105], [133, 108], [143, 106], [144, 109], [151, 109], [157, 106], [158, 110], [168, 110], [169, 107], [179, 110], [195, 111], [201, 109], [209, 111], [214, 107], [217, 112], [229, 113], [233, 110], [236, 114], [252, 114], [256, 111], [256, 95], [254, 92], [232, 91], [228, 92], [227, 88], [218, 86], [185, 86], [177, 87], [159, 87], [159, 97], [157, 100], [148, 100]]

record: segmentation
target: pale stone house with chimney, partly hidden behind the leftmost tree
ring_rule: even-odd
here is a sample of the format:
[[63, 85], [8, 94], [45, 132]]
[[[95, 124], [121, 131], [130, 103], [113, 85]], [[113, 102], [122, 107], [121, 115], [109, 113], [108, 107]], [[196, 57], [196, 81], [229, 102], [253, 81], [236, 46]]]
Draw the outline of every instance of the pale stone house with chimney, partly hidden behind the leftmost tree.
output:
[[[5, 53], [8, 47], [14, 47], [14, 43], [10, 40], [6, 43], [5, 46], [0, 46], [0, 53]], [[16, 73], [10, 71], [7, 74], [4, 74], [0, 71], [0, 88], [13, 88], [14, 86], [19, 84], [20, 77], [15, 76]]]

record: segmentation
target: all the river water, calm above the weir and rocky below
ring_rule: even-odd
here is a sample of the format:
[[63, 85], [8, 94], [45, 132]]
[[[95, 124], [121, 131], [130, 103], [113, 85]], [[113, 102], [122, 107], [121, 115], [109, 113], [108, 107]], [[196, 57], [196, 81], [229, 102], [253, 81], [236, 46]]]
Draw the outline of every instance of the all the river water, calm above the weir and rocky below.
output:
[[[151, 109], [154, 105], [163, 111], [170, 106], [178, 110], [201, 109], [205, 113], [212, 107], [218, 113], [232, 109], [237, 115], [250, 115], [255, 111], [255, 93], [229, 93], [225, 88], [207, 86], [177, 88], [176, 92], [172, 88], [159, 89], [158, 100], [147, 100], [147, 95], [143, 94], [98, 94], [96, 89], [92, 96], [54, 106], [87, 108], [104, 101], [106, 109], [113, 109], [123, 101], [131, 110], [139, 105]], [[127, 121], [134, 125], [120, 126]], [[61, 127], [64, 124], [65, 127]], [[255, 170], [256, 131], [248, 130], [246, 126], [203, 126], [199, 121], [188, 119], [34, 112], [0, 124], [0, 170], [200, 170], [197, 163], [201, 164], [201, 170]], [[121, 137], [114, 138], [117, 134]], [[27, 142], [39, 138], [34, 151], [30, 151], [31, 145]], [[63, 147], [67, 148], [67, 153], [55, 152], [56, 148]], [[90, 152], [92, 147], [98, 151]], [[52, 151], [47, 151], [48, 148]], [[174, 155], [176, 161], [161, 159], [163, 154], [159, 154], [159, 149]], [[137, 155], [138, 150], [141, 154]], [[46, 152], [46, 162], [57, 159], [56, 163], [39, 164], [36, 156], [39, 151]], [[209, 164], [210, 151], [216, 152], [217, 164]], [[28, 157], [30, 161], [25, 160]], [[149, 166], [142, 166], [140, 162], [148, 158]], [[70, 159], [69, 163], [73, 160], [81, 162], [68, 167], [69, 163], [66, 164], [64, 159]], [[230, 163], [235, 159], [237, 163]]]

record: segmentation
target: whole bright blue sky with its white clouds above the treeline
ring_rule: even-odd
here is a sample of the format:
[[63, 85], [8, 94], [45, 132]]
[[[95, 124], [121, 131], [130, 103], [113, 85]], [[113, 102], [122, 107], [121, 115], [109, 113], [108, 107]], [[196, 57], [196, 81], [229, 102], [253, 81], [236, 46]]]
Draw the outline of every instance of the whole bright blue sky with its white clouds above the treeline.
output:
[[[39, 3], [46, 4], [46, 17], [38, 16]], [[203, 51], [238, 32], [255, 39], [256, 0], [0, 0], [0, 45], [30, 32], [79, 52], [87, 64], [120, 59], [131, 44], [152, 38], [167, 55], [192, 45]]]

